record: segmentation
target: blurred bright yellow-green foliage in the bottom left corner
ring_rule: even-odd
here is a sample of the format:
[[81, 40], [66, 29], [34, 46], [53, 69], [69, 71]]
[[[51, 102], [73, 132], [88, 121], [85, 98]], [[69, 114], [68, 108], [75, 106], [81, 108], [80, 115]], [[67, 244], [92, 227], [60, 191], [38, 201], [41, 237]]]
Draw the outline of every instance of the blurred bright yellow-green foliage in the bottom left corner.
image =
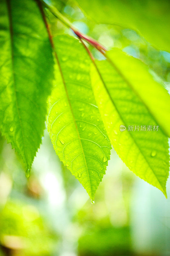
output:
[[11, 255], [50, 255], [54, 238], [33, 205], [8, 201], [1, 212], [0, 242]]

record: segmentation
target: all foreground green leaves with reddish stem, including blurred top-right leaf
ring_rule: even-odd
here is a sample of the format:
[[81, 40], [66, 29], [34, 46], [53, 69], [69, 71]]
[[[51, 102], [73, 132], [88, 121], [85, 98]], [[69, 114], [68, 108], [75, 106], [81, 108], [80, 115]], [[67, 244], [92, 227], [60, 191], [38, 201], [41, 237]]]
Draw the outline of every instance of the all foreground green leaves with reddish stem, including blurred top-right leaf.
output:
[[[78, 0], [98, 22], [134, 29], [168, 51], [170, 4], [152, 2]], [[53, 37], [44, 8], [78, 38]], [[111, 144], [130, 170], [166, 196], [170, 97], [149, 68], [117, 48], [105, 51], [46, 1], [1, 0], [0, 28], [0, 129], [21, 156], [27, 176], [47, 114], [56, 154], [92, 201]], [[83, 40], [105, 60], [95, 60]], [[139, 128], [122, 132], [121, 125]], [[144, 125], [159, 129], [144, 131]]]

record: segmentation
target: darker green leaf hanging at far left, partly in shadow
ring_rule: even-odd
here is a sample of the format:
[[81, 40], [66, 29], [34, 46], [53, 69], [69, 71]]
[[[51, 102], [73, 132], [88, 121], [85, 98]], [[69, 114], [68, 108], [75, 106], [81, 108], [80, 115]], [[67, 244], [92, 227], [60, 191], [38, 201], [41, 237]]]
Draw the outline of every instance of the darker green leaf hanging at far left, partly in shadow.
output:
[[0, 129], [26, 170], [41, 143], [53, 79], [48, 33], [37, 3], [0, 2]]

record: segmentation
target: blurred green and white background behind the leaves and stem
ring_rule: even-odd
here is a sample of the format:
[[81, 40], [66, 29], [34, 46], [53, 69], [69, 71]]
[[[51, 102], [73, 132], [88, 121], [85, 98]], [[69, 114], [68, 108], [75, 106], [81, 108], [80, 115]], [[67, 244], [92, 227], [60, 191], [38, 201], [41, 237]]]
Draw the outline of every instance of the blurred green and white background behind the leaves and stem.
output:
[[[81, 32], [108, 50], [118, 47], [141, 59], [170, 88], [169, 53], [157, 51], [130, 29], [88, 20], [73, 1], [55, 4]], [[54, 35], [73, 35], [47, 15]], [[0, 137], [0, 256], [170, 255], [170, 181], [166, 199], [130, 172], [112, 149], [93, 205], [59, 162], [46, 130], [42, 139], [27, 179], [11, 145]]]

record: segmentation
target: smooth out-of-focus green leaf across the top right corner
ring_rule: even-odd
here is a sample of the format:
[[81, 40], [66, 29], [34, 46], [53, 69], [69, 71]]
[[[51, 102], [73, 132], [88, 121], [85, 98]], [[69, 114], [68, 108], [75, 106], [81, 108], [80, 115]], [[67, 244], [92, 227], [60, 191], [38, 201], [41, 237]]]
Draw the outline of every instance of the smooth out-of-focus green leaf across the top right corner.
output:
[[77, 0], [100, 23], [136, 30], [158, 49], [170, 52], [170, 1]]

